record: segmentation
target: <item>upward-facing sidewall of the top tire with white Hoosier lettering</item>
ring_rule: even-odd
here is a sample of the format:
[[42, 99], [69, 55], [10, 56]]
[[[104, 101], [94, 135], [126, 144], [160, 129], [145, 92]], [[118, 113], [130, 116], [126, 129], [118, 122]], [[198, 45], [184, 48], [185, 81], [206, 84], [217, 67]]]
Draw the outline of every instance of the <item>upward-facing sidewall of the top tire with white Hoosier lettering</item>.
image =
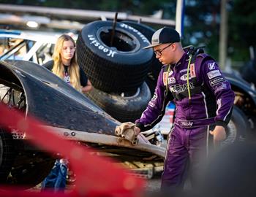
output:
[[115, 63], [123, 63], [125, 58], [126, 64], [142, 64], [148, 62], [153, 55], [153, 50], [143, 50], [143, 47], [150, 45], [150, 42], [135, 28], [124, 23], [116, 23], [116, 31], [129, 36], [135, 44], [135, 48], [130, 51], [120, 51], [116, 47], [109, 47], [102, 42], [100, 34], [111, 31], [113, 28], [111, 21], [94, 21], [83, 27], [81, 36], [84, 44], [90, 48], [92, 53], [99, 57], [108, 59]]

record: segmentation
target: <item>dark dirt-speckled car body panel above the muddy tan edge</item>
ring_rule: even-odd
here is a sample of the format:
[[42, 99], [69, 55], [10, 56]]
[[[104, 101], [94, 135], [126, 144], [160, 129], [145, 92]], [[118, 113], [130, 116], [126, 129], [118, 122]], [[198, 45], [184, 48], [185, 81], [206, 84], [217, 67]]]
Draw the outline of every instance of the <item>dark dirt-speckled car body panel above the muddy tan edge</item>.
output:
[[8, 72], [13, 74], [12, 83], [23, 87], [26, 114], [56, 127], [114, 134], [116, 120], [42, 66], [28, 61], [2, 62], [1, 79], [7, 82], [10, 78], [4, 76]]

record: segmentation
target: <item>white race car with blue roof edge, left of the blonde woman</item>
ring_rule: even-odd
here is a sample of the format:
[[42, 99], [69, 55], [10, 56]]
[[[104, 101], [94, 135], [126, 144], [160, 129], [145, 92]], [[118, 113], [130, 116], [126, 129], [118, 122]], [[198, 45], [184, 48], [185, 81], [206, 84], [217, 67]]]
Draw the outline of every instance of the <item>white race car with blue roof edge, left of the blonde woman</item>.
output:
[[60, 34], [0, 30], [0, 60], [24, 60], [42, 64], [50, 60]]

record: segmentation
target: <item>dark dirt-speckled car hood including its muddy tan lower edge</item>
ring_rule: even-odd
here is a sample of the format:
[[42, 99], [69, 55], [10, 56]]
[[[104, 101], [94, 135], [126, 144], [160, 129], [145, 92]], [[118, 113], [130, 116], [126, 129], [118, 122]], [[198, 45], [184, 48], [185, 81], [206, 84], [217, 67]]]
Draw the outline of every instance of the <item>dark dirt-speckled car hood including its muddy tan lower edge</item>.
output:
[[43, 66], [30, 61], [0, 61], [0, 83], [25, 93], [26, 116], [36, 117], [42, 126], [67, 139], [165, 157], [165, 148], [151, 144], [143, 134], [135, 146], [115, 136], [120, 124], [117, 120]]

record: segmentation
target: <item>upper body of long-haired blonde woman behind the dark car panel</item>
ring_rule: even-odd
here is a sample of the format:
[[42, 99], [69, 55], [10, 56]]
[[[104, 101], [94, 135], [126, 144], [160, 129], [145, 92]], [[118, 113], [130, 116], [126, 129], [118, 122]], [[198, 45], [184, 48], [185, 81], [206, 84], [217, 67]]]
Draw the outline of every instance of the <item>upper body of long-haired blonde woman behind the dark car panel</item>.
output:
[[80, 92], [86, 93], [92, 88], [91, 82], [76, 61], [75, 41], [67, 34], [59, 36], [53, 52], [53, 61], [43, 66]]

